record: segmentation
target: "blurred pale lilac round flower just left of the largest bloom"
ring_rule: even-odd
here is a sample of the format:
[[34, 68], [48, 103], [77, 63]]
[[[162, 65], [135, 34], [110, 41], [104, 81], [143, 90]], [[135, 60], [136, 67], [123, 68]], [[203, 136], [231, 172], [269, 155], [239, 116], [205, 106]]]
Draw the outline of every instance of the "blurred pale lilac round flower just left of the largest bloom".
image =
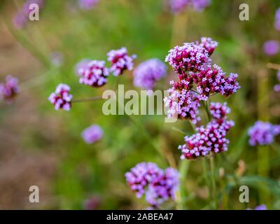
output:
[[148, 59], [134, 69], [134, 85], [153, 90], [155, 83], [167, 74], [167, 66], [159, 59]]

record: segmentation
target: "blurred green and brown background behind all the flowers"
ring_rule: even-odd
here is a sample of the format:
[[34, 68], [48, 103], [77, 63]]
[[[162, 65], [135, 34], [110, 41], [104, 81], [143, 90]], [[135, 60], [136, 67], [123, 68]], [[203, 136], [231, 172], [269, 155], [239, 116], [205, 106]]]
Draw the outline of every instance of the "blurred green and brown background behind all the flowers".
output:
[[[273, 92], [276, 71], [267, 68], [267, 62], [280, 62], [280, 54], [267, 57], [262, 51], [265, 41], [280, 41], [274, 29], [279, 1], [212, 0], [203, 12], [188, 9], [174, 15], [165, 0], [100, 0], [92, 10], [80, 10], [76, 1], [48, 0], [40, 21], [17, 30], [11, 21], [22, 3], [0, 3], [0, 80], [13, 74], [22, 89], [13, 104], [0, 105], [0, 209], [84, 209], [91, 197], [100, 202], [97, 209], [145, 209], [145, 200], [137, 200], [127, 186], [125, 172], [144, 161], [166, 168], [169, 155], [179, 165], [177, 147], [184, 134], [175, 129], [191, 134], [189, 123], [167, 124], [165, 116], [104, 116], [102, 101], [75, 104], [69, 113], [55, 111], [48, 96], [58, 83], [70, 85], [76, 98], [113, 88], [115, 77], [99, 89], [80, 85], [74, 72], [80, 59], [106, 60], [109, 50], [125, 46], [138, 56], [136, 65], [153, 57], [164, 61], [174, 45], [201, 36], [219, 42], [213, 61], [227, 73], [239, 73], [241, 85], [229, 99], [211, 99], [228, 102], [235, 121], [229, 151], [216, 160], [222, 168], [216, 170], [220, 209], [258, 204], [280, 209], [279, 143], [256, 148], [247, 137], [255, 120], [280, 123], [280, 95]], [[250, 7], [249, 21], [239, 20], [241, 3]], [[61, 66], [50, 63], [53, 52], [63, 55]], [[172, 78], [169, 68], [157, 88], [167, 90]], [[135, 89], [132, 81], [131, 72], [119, 79], [126, 90]], [[87, 145], [80, 133], [94, 123], [104, 137]], [[187, 209], [209, 208], [200, 160], [190, 162], [182, 184]], [[239, 202], [242, 184], [250, 188], [249, 204]], [[31, 185], [40, 188], [38, 204], [28, 201]]]

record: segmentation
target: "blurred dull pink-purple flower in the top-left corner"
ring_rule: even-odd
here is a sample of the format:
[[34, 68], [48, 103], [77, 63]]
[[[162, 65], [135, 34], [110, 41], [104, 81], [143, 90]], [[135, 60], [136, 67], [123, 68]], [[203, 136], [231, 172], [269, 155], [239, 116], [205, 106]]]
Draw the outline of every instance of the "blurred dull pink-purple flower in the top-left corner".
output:
[[29, 6], [31, 4], [37, 4], [39, 8], [42, 8], [44, 6], [44, 0], [27, 0], [25, 1], [24, 5], [18, 12], [15, 14], [15, 17], [13, 19], [13, 24], [17, 29], [22, 29], [27, 25], [27, 21], [29, 20], [29, 13], [31, 10], [29, 10]]

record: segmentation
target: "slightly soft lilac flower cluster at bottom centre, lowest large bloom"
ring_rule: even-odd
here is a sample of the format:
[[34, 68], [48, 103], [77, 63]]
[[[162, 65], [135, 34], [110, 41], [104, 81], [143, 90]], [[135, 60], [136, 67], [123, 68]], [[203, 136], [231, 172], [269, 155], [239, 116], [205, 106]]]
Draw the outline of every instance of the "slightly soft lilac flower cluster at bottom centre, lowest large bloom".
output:
[[174, 200], [175, 191], [179, 186], [179, 173], [176, 169], [160, 169], [152, 162], [141, 162], [125, 174], [130, 188], [137, 197], [146, 195], [146, 201], [158, 208], [163, 202]]

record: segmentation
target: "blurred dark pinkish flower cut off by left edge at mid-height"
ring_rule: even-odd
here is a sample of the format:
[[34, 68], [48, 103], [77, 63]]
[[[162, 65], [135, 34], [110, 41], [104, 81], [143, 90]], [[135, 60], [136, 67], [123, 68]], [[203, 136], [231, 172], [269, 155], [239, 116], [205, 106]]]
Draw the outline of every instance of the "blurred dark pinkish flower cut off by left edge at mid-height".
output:
[[11, 102], [19, 92], [18, 78], [7, 76], [6, 83], [0, 83], [0, 99], [4, 99], [6, 102]]

